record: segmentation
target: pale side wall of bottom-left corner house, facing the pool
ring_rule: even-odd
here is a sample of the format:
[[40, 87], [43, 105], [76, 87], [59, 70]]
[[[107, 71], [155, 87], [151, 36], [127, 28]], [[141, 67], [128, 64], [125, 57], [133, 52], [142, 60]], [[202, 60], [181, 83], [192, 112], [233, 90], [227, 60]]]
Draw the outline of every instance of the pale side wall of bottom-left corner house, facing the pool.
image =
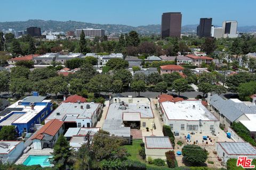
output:
[[[2, 163], [13, 163], [15, 160], [21, 155], [22, 151], [24, 150], [24, 143], [21, 141], [18, 145], [12, 149], [9, 154], [0, 154], [2, 158]], [[7, 161], [6, 161], [7, 159]]]

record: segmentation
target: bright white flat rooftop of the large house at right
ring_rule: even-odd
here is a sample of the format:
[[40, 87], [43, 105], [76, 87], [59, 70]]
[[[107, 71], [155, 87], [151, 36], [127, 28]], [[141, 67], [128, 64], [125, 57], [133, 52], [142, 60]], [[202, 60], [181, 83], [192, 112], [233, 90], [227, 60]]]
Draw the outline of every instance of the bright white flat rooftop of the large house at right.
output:
[[201, 100], [183, 100], [173, 103], [165, 101], [161, 104], [169, 120], [186, 121], [218, 121], [201, 103]]

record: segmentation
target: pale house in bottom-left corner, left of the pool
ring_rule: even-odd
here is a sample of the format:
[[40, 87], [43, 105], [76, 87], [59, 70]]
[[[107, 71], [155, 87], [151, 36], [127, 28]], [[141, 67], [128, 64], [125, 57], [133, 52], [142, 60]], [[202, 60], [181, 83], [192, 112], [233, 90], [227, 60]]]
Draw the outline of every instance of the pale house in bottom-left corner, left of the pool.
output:
[[24, 149], [23, 141], [0, 141], [1, 164], [14, 163], [20, 157]]

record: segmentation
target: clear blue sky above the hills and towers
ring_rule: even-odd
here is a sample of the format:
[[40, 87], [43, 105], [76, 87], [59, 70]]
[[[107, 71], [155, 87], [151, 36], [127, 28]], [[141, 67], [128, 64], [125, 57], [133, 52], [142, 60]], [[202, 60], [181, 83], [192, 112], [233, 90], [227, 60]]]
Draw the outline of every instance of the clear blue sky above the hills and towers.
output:
[[236, 20], [256, 25], [256, 0], [8, 0], [1, 1], [0, 22], [29, 19], [100, 24], [161, 24], [163, 12], [181, 12], [182, 25], [213, 18], [214, 25]]

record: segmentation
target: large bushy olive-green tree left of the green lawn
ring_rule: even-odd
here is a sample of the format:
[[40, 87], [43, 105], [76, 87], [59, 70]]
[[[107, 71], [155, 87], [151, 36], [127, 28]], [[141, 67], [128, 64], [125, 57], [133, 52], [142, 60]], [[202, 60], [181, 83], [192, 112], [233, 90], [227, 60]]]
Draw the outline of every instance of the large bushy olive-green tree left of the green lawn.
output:
[[110, 136], [107, 131], [100, 130], [94, 134], [92, 140], [92, 152], [97, 160], [122, 159], [128, 156], [127, 151], [122, 147], [124, 140]]

